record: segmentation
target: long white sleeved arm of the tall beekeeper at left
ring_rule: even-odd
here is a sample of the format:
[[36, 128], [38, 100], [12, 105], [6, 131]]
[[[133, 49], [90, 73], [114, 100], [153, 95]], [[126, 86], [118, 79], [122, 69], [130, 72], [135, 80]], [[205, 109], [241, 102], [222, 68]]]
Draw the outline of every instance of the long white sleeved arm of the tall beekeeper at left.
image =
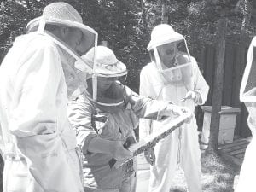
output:
[[[44, 191], [79, 191], [58, 131], [57, 90], [61, 61], [54, 44], [26, 49], [14, 78], [9, 128], [26, 158], [29, 172]], [[62, 102], [62, 101], [61, 101]]]

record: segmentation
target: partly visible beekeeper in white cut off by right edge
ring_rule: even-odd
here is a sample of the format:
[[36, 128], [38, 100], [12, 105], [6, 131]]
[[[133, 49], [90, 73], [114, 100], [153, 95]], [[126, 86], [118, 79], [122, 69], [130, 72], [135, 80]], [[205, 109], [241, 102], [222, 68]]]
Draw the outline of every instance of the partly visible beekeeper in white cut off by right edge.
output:
[[241, 80], [240, 101], [244, 102], [247, 107], [249, 113], [247, 124], [253, 137], [247, 146], [235, 191], [253, 192], [256, 190], [254, 177], [256, 172], [256, 37], [253, 38], [247, 52], [247, 66]]

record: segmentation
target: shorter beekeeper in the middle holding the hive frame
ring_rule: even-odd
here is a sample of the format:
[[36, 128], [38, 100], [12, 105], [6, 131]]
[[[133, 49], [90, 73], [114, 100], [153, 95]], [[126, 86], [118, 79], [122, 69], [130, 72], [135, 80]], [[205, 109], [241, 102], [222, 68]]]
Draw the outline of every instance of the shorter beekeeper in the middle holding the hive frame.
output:
[[[92, 55], [89, 51], [84, 61], [93, 62]], [[84, 154], [84, 190], [134, 192], [136, 161], [123, 145], [131, 138], [135, 140], [137, 118], [162, 119], [171, 113], [180, 114], [184, 108], [130, 90], [125, 86], [125, 64], [107, 47], [97, 47], [94, 66], [94, 73], [84, 79], [84, 93], [68, 105], [69, 120]], [[113, 159], [129, 158], [123, 166], [109, 164]]]

